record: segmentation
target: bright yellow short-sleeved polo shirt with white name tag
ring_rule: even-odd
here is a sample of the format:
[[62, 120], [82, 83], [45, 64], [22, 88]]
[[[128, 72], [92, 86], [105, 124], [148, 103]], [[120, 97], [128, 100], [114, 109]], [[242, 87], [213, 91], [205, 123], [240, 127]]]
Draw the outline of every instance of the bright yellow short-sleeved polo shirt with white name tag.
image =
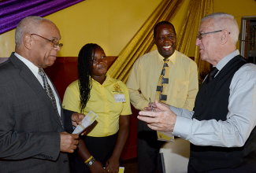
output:
[[[116, 102], [114, 95], [123, 94], [125, 101]], [[71, 83], [65, 90], [62, 106], [75, 112], [80, 112], [80, 91], [78, 80]], [[102, 85], [92, 79], [91, 97], [83, 113], [95, 112], [98, 118], [88, 127], [87, 136], [106, 137], [116, 134], [119, 130], [119, 116], [131, 115], [128, 88], [123, 82], [106, 74]]]

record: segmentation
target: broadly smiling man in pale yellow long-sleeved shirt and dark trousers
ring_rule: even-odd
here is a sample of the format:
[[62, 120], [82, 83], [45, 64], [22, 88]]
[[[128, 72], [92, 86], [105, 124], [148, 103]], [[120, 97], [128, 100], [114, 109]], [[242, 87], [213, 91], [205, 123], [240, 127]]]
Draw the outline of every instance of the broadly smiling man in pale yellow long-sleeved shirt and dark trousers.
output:
[[[156, 97], [159, 76], [165, 61], [169, 68], [165, 103], [178, 108], [192, 110], [198, 92], [198, 72], [195, 61], [176, 51], [176, 31], [173, 24], [161, 21], [154, 27], [154, 43], [158, 50], [139, 57], [132, 68], [128, 86], [130, 100], [135, 109], [144, 110]], [[165, 60], [165, 61], [164, 61]], [[161, 99], [160, 99], [161, 100]], [[147, 123], [138, 120], [138, 171], [155, 173], [158, 167], [158, 153], [163, 142], [158, 141], [156, 131]]]

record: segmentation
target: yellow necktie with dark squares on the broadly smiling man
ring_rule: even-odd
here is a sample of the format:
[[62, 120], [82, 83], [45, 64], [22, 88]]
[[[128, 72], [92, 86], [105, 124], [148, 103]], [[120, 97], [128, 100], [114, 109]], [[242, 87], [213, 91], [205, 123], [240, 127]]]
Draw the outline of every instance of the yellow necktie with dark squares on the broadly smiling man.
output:
[[161, 70], [161, 75], [158, 79], [158, 86], [157, 86], [157, 92], [155, 98], [165, 103], [167, 101], [167, 92], [168, 92], [168, 84], [169, 84], [169, 66], [168, 61], [164, 59], [165, 64]]

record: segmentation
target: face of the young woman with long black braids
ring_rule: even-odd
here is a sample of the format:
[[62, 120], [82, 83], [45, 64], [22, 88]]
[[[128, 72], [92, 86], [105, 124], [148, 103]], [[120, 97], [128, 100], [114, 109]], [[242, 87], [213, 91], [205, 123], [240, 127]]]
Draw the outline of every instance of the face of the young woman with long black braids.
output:
[[[91, 57], [94, 57], [94, 50], [91, 53]], [[92, 71], [92, 78], [98, 76], [105, 76], [107, 69], [108, 69], [108, 60], [104, 50], [101, 47], [95, 47], [95, 57], [93, 59], [93, 71]]]

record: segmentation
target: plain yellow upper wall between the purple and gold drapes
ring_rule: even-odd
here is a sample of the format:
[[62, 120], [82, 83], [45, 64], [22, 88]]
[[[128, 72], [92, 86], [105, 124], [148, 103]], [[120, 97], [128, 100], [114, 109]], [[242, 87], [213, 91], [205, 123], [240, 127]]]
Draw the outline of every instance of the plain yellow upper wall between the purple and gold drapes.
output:
[[[86, 0], [45, 18], [54, 21], [64, 44], [60, 57], [76, 57], [80, 48], [98, 43], [109, 56], [117, 56], [132, 39], [161, 0]], [[189, 0], [185, 0], [173, 19], [180, 31]], [[0, 57], [14, 51], [14, 31], [0, 35]]]

